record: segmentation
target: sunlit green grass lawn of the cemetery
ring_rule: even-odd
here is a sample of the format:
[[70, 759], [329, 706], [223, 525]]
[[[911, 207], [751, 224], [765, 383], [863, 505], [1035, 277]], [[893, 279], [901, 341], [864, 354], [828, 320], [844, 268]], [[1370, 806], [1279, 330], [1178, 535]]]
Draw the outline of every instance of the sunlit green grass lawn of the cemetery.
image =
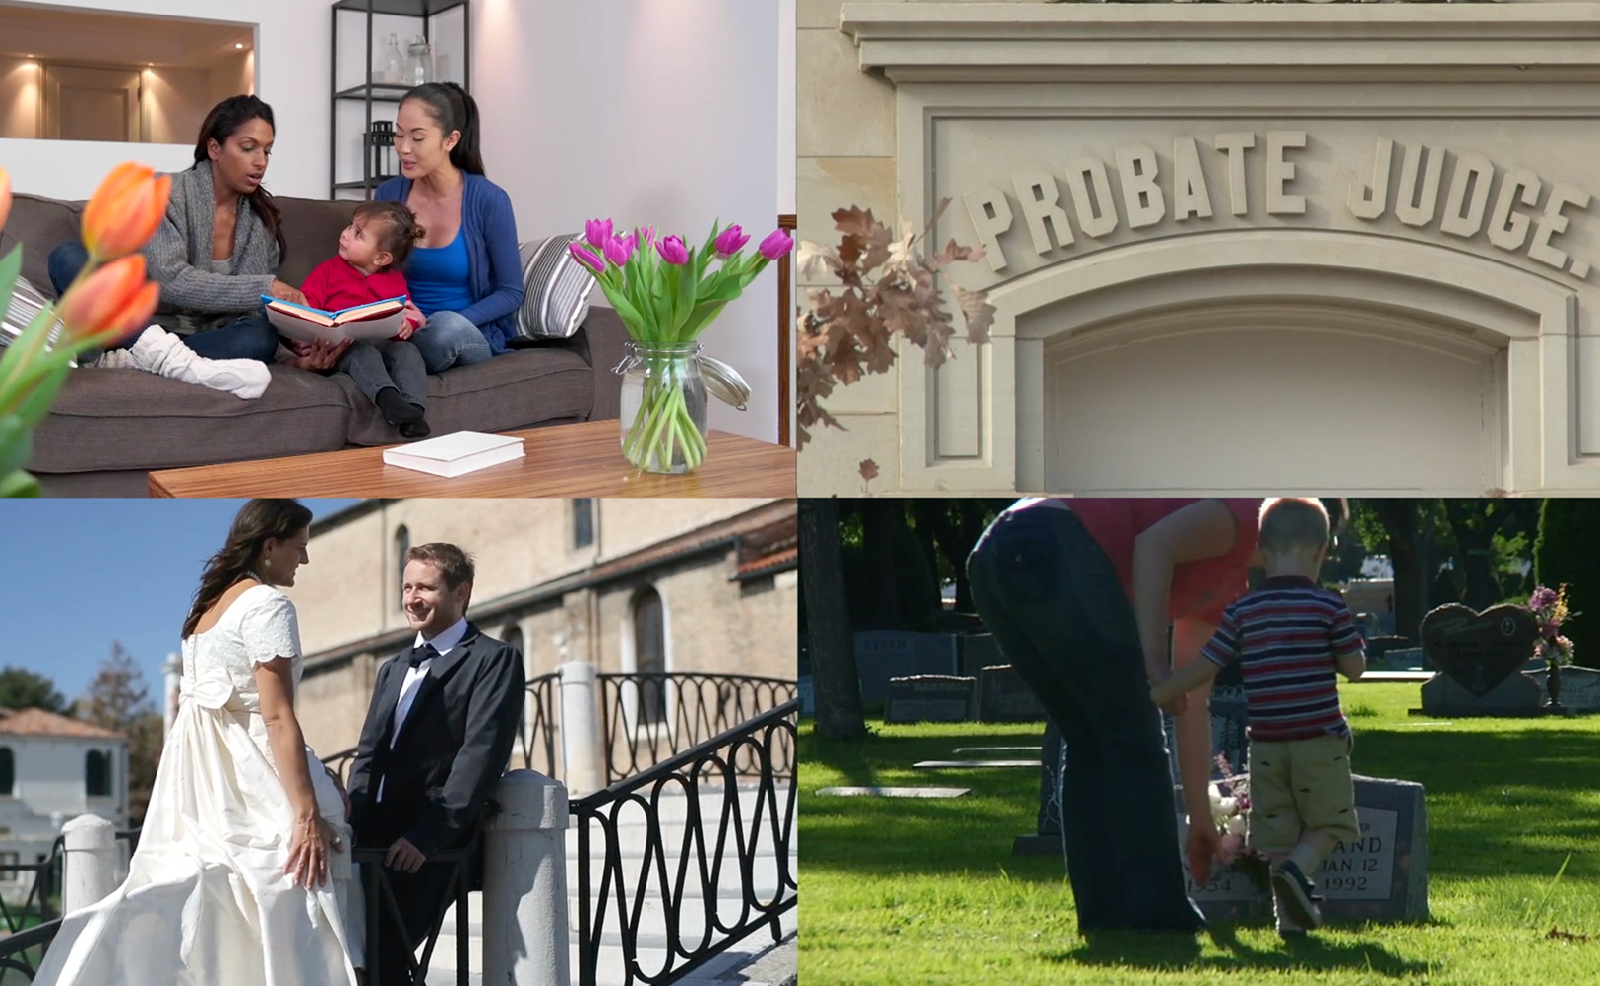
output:
[[[1016, 858], [1037, 770], [912, 770], [963, 746], [1037, 746], [1042, 725], [874, 722], [800, 738], [800, 981], [915, 984], [1600, 981], [1600, 715], [1411, 717], [1416, 683], [1342, 688], [1354, 767], [1427, 788], [1432, 920], [1302, 943], [1270, 922], [1195, 938], [1077, 935], [1059, 858]], [[950, 800], [821, 797], [834, 784], [971, 788]], [[1565, 872], [1563, 872], [1565, 863]], [[1560, 872], [1560, 879], [1557, 874]], [[1552, 928], [1587, 941], [1550, 936]]]

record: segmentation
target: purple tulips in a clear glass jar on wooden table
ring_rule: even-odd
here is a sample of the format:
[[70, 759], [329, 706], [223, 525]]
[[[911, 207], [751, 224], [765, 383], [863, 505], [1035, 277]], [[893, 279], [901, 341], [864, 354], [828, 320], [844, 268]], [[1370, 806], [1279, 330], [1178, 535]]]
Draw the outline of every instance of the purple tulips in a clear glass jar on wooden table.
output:
[[656, 238], [643, 226], [618, 234], [590, 219], [584, 243], [568, 250], [589, 271], [627, 327], [632, 343], [622, 379], [622, 455], [646, 472], [690, 472], [706, 458], [706, 392], [744, 407], [749, 387], [725, 363], [701, 355], [699, 335], [722, 309], [786, 256], [794, 240], [773, 230], [750, 255], [739, 226], [712, 222], [694, 248], [683, 237]]

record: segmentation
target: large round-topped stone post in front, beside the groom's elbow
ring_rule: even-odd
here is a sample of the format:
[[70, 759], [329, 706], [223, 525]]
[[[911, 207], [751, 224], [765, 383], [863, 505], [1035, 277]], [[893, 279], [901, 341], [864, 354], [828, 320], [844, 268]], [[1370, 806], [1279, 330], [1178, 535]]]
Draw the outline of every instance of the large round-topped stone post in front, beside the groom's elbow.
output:
[[566, 789], [534, 770], [499, 784], [483, 842], [483, 981], [571, 986]]

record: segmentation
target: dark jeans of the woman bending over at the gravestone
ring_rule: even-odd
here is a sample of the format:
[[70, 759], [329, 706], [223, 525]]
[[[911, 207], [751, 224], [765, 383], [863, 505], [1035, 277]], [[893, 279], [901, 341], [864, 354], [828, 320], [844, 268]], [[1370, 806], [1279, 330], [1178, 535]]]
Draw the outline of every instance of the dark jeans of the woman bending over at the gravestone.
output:
[[1133, 605], [1078, 517], [1002, 514], [966, 562], [1000, 650], [1061, 730], [1061, 837], [1078, 928], [1205, 927], [1184, 890], [1173, 773]]

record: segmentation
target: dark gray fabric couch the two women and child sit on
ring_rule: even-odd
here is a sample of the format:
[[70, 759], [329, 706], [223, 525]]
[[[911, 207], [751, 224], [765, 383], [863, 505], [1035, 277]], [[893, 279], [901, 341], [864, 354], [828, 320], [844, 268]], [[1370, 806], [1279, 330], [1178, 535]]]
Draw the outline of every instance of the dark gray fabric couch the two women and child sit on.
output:
[[[299, 285], [333, 256], [354, 202], [280, 197], [288, 251], [278, 277]], [[78, 235], [83, 202], [16, 195], [0, 234], [0, 256], [22, 243], [22, 277], [51, 293], [46, 258]], [[429, 378], [427, 421], [435, 435], [507, 431], [619, 413], [627, 330], [605, 307], [589, 312], [571, 339], [552, 339], [475, 367]], [[46, 496], [146, 496], [152, 469], [208, 466], [362, 445], [392, 445], [382, 419], [349, 376], [272, 367], [258, 400], [138, 370], [74, 370], [34, 434], [29, 471]]]

